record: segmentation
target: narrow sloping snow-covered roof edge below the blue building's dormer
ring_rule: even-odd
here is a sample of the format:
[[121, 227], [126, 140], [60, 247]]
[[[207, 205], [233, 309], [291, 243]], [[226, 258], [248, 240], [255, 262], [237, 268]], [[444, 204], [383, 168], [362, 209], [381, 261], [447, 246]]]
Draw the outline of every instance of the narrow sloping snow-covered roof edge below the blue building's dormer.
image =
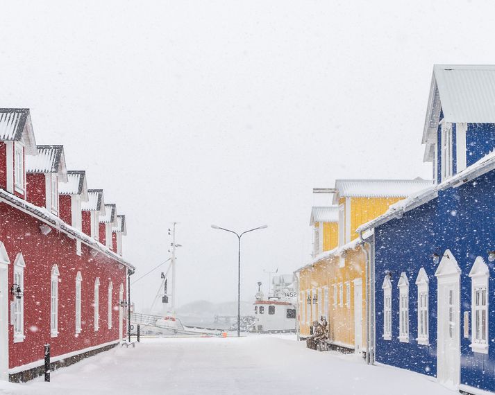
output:
[[417, 193], [413, 193], [408, 196], [408, 198], [390, 205], [385, 213], [369, 222], [364, 223], [356, 229], [356, 232], [360, 233], [361, 231], [373, 229], [383, 225], [385, 222], [388, 222], [393, 218], [402, 218], [403, 213], [437, 198], [438, 191], [444, 191], [444, 189], [451, 187], [455, 188], [492, 170], [495, 170], [495, 150], [490, 152], [488, 155], [485, 155], [485, 157], [481, 158], [468, 168], [465, 168], [456, 175], [446, 179], [444, 182], [425, 188]]

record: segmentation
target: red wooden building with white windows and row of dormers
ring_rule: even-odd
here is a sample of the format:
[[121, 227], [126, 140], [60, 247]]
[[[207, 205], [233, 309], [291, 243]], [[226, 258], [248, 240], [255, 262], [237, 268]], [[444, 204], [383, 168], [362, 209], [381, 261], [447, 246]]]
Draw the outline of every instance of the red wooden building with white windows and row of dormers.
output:
[[28, 380], [118, 344], [126, 326], [124, 216], [36, 146], [28, 109], [0, 109], [0, 376]]

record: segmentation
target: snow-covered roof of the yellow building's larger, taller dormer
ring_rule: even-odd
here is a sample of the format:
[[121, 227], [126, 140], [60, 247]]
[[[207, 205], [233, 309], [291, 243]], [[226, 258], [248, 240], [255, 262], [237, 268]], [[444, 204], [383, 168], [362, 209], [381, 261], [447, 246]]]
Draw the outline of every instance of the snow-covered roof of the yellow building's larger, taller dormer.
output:
[[433, 185], [433, 181], [415, 179], [337, 179], [333, 203], [339, 198], [402, 198]]

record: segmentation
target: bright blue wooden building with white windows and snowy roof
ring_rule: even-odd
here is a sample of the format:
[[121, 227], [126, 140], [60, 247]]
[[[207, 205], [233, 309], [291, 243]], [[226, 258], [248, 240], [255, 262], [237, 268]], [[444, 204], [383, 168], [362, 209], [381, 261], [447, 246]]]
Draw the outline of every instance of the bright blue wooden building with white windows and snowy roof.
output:
[[358, 229], [376, 361], [495, 394], [495, 66], [434, 67], [423, 144], [434, 185]]

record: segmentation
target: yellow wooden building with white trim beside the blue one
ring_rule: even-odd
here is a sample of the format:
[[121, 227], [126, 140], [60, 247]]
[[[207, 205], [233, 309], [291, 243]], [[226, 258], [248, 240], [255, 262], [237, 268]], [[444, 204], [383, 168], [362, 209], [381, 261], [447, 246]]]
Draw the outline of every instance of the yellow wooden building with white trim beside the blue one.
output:
[[325, 317], [330, 341], [342, 349], [363, 351], [366, 346], [366, 254], [355, 233], [387, 211], [390, 204], [430, 186], [423, 179], [337, 179], [333, 202], [312, 207], [312, 260], [296, 270], [298, 283], [298, 331], [312, 333], [312, 322]]

